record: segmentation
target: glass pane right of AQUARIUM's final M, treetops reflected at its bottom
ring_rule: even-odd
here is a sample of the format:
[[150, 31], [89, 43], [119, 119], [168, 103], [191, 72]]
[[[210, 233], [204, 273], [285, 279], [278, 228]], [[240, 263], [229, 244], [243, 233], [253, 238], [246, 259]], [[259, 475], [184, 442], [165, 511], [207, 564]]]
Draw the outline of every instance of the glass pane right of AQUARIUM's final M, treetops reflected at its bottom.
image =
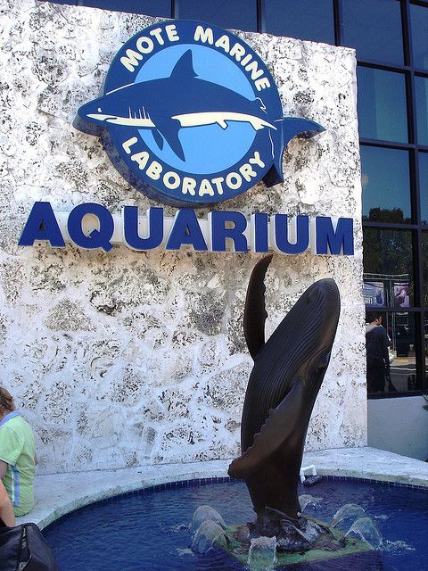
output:
[[363, 219], [411, 222], [407, 151], [362, 145]]

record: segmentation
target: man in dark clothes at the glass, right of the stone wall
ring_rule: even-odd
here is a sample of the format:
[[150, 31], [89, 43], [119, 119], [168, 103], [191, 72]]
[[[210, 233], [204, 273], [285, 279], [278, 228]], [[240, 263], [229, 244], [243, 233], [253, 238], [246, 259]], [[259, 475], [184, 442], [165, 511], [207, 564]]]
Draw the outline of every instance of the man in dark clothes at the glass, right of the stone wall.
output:
[[367, 392], [383, 393], [385, 377], [390, 379], [388, 335], [380, 313], [367, 313], [366, 321]]

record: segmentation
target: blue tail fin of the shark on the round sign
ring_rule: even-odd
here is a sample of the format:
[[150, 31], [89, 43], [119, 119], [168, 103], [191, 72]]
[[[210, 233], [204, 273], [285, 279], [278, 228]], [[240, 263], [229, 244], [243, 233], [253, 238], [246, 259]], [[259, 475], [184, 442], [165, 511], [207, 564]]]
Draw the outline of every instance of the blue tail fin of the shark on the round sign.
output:
[[275, 123], [278, 127], [279, 137], [273, 139], [274, 163], [263, 178], [266, 186], [274, 186], [284, 182], [283, 155], [285, 147], [293, 137], [310, 138], [325, 131], [325, 128], [319, 123], [300, 119], [300, 117], [285, 117], [275, 121]]

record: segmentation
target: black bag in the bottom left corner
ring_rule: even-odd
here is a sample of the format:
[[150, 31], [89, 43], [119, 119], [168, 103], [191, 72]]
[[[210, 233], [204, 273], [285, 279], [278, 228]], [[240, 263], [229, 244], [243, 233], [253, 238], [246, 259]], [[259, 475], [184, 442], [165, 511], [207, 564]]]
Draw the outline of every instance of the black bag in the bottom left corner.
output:
[[36, 524], [2, 527], [1, 523], [0, 571], [60, 571]]

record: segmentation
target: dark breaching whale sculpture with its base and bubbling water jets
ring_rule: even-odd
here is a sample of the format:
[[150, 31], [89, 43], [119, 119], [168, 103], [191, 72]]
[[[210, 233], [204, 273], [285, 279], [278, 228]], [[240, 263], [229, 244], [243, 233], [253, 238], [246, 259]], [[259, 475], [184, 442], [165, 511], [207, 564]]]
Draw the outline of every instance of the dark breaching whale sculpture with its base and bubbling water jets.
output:
[[[257, 517], [226, 526], [217, 512], [204, 507], [207, 517], [193, 539], [194, 550], [222, 546], [251, 568], [343, 557], [374, 550], [382, 542], [358, 506], [339, 510], [331, 525], [302, 514], [298, 484], [303, 447], [341, 303], [333, 279], [317, 281], [265, 342], [264, 280], [271, 260], [269, 255], [256, 264], [247, 290], [243, 329], [254, 367], [243, 405], [242, 455], [228, 470], [229, 476], [245, 481]], [[309, 502], [303, 498], [304, 507]], [[200, 516], [195, 513], [193, 528]], [[350, 519], [346, 533], [335, 528], [344, 518]]]

